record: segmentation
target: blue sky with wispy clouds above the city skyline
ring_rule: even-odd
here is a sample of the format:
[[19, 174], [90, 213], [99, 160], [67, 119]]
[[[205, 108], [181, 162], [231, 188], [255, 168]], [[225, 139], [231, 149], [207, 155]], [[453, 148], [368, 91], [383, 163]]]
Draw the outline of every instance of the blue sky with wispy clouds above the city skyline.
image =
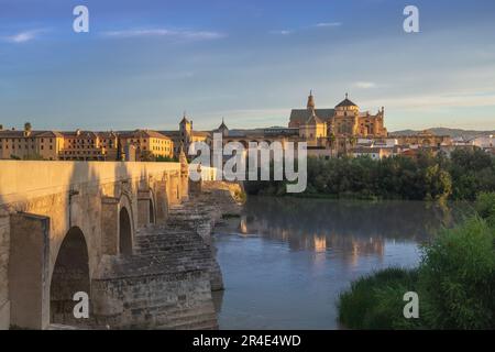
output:
[[493, 0], [0, 0], [0, 124], [287, 125], [312, 89], [385, 107], [389, 131], [495, 130], [494, 38]]

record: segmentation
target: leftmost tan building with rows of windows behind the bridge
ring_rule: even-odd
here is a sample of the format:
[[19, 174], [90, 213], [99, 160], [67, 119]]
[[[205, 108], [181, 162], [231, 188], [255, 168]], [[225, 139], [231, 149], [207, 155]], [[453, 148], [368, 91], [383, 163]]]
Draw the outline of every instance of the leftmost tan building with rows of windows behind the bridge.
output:
[[0, 130], [0, 158], [56, 161], [64, 136], [54, 131], [33, 131], [26, 123], [23, 131]]

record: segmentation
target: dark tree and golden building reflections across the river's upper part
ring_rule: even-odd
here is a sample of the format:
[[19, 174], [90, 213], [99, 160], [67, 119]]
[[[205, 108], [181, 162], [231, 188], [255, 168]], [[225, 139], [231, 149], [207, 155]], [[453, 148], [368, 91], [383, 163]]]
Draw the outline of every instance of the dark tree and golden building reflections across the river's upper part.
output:
[[363, 256], [382, 258], [387, 241], [422, 242], [451, 218], [448, 209], [425, 202], [253, 197], [237, 231], [286, 242], [293, 251], [327, 253], [354, 266]]

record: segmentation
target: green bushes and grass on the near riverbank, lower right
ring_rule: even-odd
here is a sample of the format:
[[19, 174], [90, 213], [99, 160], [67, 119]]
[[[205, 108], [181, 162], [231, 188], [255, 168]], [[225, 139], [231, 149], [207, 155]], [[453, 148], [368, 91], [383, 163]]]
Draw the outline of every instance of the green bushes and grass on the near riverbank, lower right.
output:
[[[352, 283], [339, 297], [340, 322], [350, 329], [495, 329], [495, 194], [481, 194], [475, 209], [422, 248], [419, 267]], [[418, 319], [404, 318], [407, 292], [418, 293]]]

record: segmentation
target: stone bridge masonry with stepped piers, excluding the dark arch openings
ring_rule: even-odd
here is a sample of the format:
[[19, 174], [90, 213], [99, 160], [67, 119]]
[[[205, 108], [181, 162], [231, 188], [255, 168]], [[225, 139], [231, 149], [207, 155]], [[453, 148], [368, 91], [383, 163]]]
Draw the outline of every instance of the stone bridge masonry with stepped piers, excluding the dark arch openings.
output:
[[[21, 248], [11, 248], [19, 242], [12, 237], [18, 240], [21, 233], [12, 233], [12, 217], [20, 212], [46, 219], [50, 229], [46, 253], [32, 249], [45, 253], [47, 263], [33, 286], [42, 289], [41, 316], [46, 317], [55, 297], [50, 286], [61, 248], [77, 229], [87, 245], [91, 283], [92, 318], [82, 326], [217, 327], [211, 290], [223, 284], [210, 233], [223, 213], [240, 209], [240, 185], [206, 182], [189, 197], [187, 172], [177, 163], [2, 161], [0, 169], [0, 329], [12, 322], [9, 266], [15, 265], [12, 273], [34, 267], [18, 267], [23, 261], [13, 264], [9, 257], [12, 250], [22, 254]], [[155, 224], [150, 223], [148, 200]], [[123, 208], [132, 230], [133, 251], [128, 255], [119, 250]], [[19, 307], [22, 301], [14, 309]], [[64, 311], [56, 317], [70, 323]], [[47, 328], [45, 319], [41, 321], [40, 327]]]

